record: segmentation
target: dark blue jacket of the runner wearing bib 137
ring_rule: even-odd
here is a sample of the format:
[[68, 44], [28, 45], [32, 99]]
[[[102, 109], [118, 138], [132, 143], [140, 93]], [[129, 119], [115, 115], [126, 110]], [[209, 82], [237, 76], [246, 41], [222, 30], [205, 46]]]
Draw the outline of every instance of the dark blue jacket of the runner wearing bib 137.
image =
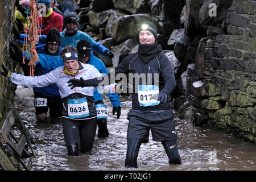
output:
[[[42, 57], [46, 57], [45, 55], [59, 56], [61, 50], [62, 50], [62, 48], [59, 47], [59, 51], [57, 51], [53, 55], [49, 55], [49, 53], [46, 51], [46, 45], [45, 44], [44, 44], [44, 46], [36, 47], [36, 52], [38, 52], [38, 54], [40, 55], [39, 60], [42, 59]], [[53, 69], [43, 68], [42, 65], [40, 64], [40, 61], [39, 61], [38, 64], [36, 64], [36, 67], [35, 67], [35, 76], [45, 75], [46, 73], [49, 73], [52, 70]], [[34, 93], [42, 93], [42, 94], [44, 94], [44, 96], [48, 96], [48, 97], [59, 96], [60, 95], [59, 87], [56, 84], [52, 84], [52, 85], [48, 85], [48, 86], [44, 86], [44, 87], [35, 87], [33, 89], [34, 89]]]

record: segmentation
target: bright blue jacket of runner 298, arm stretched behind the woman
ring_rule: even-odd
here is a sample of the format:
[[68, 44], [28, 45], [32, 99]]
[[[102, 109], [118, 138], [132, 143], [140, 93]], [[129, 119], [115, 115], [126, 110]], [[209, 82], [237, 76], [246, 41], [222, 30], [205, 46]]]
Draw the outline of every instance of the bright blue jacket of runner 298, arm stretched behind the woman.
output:
[[[43, 55], [41, 53], [39, 53], [38, 56], [40, 61], [36, 62], [36, 65], [40, 64], [44, 69], [56, 69], [58, 67], [64, 66], [63, 60], [60, 56], [49, 57], [49, 55]], [[108, 69], [106, 69], [105, 64], [102, 62], [102, 60], [93, 56], [93, 53], [91, 53], [89, 64], [96, 67], [96, 69], [98, 69], [100, 73], [109, 73]], [[95, 101], [102, 100], [101, 94], [97, 92], [97, 87], [96, 90], [94, 90], [93, 95]], [[108, 93], [108, 96], [113, 107], [118, 107], [121, 105], [117, 93]]]

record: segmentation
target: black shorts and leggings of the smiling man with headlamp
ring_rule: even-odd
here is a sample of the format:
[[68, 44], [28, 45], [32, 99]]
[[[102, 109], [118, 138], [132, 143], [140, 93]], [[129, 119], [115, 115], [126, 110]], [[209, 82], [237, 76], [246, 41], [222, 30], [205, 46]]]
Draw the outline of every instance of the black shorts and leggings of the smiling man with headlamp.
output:
[[149, 131], [152, 139], [160, 141], [170, 164], [181, 164], [177, 150], [177, 135], [172, 119], [172, 110], [150, 113], [131, 109], [127, 115], [127, 152], [125, 167], [137, 167], [137, 157], [142, 143], [148, 142]]

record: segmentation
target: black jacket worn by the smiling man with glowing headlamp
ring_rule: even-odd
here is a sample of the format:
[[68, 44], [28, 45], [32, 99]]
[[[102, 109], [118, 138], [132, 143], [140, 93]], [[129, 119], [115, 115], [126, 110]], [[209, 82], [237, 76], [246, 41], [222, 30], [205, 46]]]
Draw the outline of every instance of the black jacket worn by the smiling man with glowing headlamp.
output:
[[[145, 47], [146, 46], [146, 47]], [[159, 91], [166, 93], [170, 96], [172, 90], [175, 89], [176, 81], [174, 77], [174, 70], [170, 60], [162, 52], [160, 44], [139, 44], [139, 50], [137, 53], [133, 53], [127, 56], [123, 61], [115, 68], [115, 72], [109, 73], [100, 78], [94, 78], [92, 80], [85, 80], [85, 86], [97, 86], [101, 81], [109, 80], [109, 84], [119, 82], [116, 80], [118, 73], [125, 73], [127, 78], [131, 77], [132, 74], [145, 73], [147, 85], [159, 85]], [[159, 79], [154, 82], [154, 73], [158, 73]], [[111, 76], [112, 75], [112, 76]], [[115, 79], [113, 79], [115, 75]], [[148, 80], [148, 76], [152, 75], [152, 82]], [[159, 81], [158, 81], [159, 80]], [[137, 88], [139, 85], [144, 85], [142, 79], [133, 79], [133, 105], [132, 109], [143, 110], [143, 111], [156, 111], [170, 109], [170, 102], [166, 104], [160, 103], [156, 106], [143, 107], [139, 106]]]

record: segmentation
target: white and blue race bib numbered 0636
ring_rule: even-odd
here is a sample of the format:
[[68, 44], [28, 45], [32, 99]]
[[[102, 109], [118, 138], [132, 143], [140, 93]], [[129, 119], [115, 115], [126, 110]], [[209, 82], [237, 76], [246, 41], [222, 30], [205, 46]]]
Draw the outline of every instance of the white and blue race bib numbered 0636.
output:
[[68, 117], [82, 118], [90, 115], [86, 98], [68, 99]]

